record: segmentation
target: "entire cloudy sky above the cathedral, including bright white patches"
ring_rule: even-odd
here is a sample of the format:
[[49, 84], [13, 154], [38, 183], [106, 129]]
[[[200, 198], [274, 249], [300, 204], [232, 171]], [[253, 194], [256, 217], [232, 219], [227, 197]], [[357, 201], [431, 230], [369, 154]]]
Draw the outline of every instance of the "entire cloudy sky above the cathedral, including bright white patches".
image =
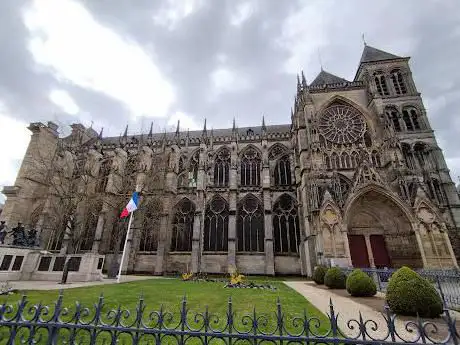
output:
[[[460, 175], [458, 0], [2, 0], [0, 186], [32, 121], [118, 135], [287, 123], [301, 69], [352, 80], [369, 45], [411, 66], [452, 178]], [[319, 52], [319, 54], [318, 54]], [[1, 199], [0, 199], [1, 200]]]

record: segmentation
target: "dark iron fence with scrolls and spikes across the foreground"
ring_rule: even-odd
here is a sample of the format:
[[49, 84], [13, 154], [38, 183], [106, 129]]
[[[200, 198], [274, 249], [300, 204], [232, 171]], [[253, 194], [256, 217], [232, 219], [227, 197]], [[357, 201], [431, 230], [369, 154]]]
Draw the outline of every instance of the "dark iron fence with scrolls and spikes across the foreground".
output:
[[459, 329], [449, 310], [438, 320], [402, 321], [388, 308], [381, 319], [345, 319], [332, 301], [327, 318], [288, 314], [278, 300], [276, 312], [247, 315], [234, 311], [231, 298], [221, 314], [207, 307], [191, 312], [184, 297], [177, 314], [161, 307], [148, 311], [144, 299], [134, 310], [111, 309], [104, 297], [92, 307], [30, 305], [23, 296], [15, 305], [0, 305], [1, 344], [454, 344]]

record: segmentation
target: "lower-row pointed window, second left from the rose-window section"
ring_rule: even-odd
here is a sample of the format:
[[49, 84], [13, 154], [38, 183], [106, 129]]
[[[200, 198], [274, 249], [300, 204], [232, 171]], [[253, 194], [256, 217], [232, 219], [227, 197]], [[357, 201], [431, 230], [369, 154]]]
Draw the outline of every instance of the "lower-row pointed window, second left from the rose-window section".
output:
[[241, 200], [237, 214], [237, 249], [239, 252], [264, 251], [264, 210], [254, 195]]

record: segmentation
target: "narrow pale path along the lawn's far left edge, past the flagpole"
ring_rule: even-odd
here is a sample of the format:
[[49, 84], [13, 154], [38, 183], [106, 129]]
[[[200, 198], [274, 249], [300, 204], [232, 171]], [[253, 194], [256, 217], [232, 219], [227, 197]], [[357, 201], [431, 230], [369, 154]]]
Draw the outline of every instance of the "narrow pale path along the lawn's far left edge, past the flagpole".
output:
[[[121, 277], [120, 283], [127, 283], [137, 280], [146, 280], [146, 279], [158, 279], [164, 277], [157, 277], [157, 276], [136, 276], [136, 275], [127, 275]], [[4, 283], [4, 282], [0, 282]], [[60, 290], [60, 289], [71, 289], [77, 287], [85, 287], [85, 286], [95, 286], [95, 285], [106, 285], [106, 284], [116, 284], [116, 279], [108, 279], [104, 278], [102, 281], [94, 281], [94, 282], [74, 282], [74, 283], [67, 283], [67, 284], [59, 284], [55, 281], [9, 281], [8, 284], [13, 289], [18, 290]]]

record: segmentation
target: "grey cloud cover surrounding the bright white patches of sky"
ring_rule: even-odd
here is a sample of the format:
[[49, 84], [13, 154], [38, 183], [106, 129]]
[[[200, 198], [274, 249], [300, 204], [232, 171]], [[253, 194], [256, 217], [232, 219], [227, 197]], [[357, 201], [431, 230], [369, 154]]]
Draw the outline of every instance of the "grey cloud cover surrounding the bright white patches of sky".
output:
[[[171, 111], [183, 111], [209, 126], [223, 127], [236, 116], [240, 126], [289, 122], [295, 92], [295, 75], [284, 70], [291, 51], [276, 44], [287, 18], [311, 1], [258, 1], [257, 11], [239, 27], [230, 23], [238, 1], [204, 1], [202, 7], [182, 20], [173, 30], [156, 25], [153, 17], [166, 6], [164, 1], [81, 1], [97, 21], [143, 47], [176, 91]], [[14, 3], [14, 5], [13, 5]], [[0, 2], [0, 99], [15, 115], [36, 120], [56, 107], [47, 98], [51, 88], [67, 90], [95, 123], [117, 119], [119, 131], [128, 121], [124, 106], [105, 95], [62, 84], [46, 70], [39, 70], [27, 50], [29, 33], [20, 10], [28, 1]], [[323, 7], [321, 7], [323, 8]], [[301, 23], [311, 31], [324, 33], [320, 44], [326, 70], [352, 79], [362, 52], [361, 33], [369, 44], [394, 54], [412, 56], [411, 66], [419, 90], [427, 101], [445, 97], [445, 103], [428, 115], [448, 158], [460, 158], [456, 150], [458, 129], [454, 126], [460, 107], [460, 3], [446, 1], [329, 1], [323, 12], [324, 25]], [[314, 49], [316, 51], [316, 48]], [[224, 64], [220, 56], [226, 57]], [[309, 81], [320, 70], [318, 59], [304, 57]], [[250, 81], [241, 91], [224, 92], [210, 98], [211, 74], [219, 67], [234, 71]], [[429, 107], [428, 107], [429, 108]], [[139, 121], [138, 121], [139, 122]], [[146, 119], [145, 122], [148, 122]], [[161, 122], [159, 120], [158, 122]], [[146, 127], [147, 125], [144, 125]], [[118, 134], [118, 133], [115, 133]], [[460, 166], [457, 168], [460, 172]]]

